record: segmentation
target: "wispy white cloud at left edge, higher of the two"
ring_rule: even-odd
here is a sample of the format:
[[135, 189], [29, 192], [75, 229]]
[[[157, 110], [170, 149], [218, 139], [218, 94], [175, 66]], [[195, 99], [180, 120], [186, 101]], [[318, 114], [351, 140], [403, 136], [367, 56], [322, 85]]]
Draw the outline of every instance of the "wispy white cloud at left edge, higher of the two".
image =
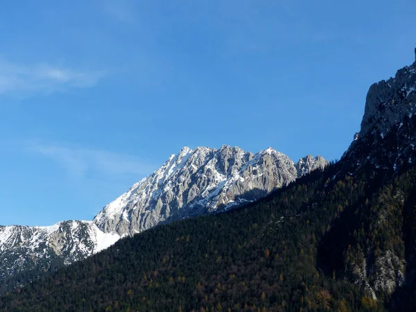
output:
[[0, 94], [49, 94], [92, 87], [103, 76], [103, 71], [82, 71], [49, 63], [19, 64], [0, 58]]

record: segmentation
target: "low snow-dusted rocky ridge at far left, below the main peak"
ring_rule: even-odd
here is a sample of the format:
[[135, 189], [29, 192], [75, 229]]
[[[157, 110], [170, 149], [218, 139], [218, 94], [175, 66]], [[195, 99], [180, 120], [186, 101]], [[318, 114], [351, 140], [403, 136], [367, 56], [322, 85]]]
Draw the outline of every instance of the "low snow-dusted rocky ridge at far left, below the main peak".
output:
[[92, 221], [62, 221], [50, 227], [0, 226], [0, 278], [33, 268], [67, 265], [118, 239], [101, 232]]

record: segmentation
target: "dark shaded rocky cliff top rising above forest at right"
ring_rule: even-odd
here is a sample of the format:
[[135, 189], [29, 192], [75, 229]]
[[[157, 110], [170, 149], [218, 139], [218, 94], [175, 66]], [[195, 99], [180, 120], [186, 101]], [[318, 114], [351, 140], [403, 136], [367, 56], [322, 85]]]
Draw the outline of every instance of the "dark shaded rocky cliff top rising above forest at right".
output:
[[416, 62], [370, 87], [361, 130], [343, 157], [397, 171], [415, 161], [415, 144]]

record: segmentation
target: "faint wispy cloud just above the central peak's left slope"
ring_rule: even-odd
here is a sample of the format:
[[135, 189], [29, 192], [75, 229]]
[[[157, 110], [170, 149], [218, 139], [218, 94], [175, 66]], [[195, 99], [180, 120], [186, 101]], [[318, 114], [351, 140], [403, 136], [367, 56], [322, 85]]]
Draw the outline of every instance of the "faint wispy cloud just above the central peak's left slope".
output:
[[144, 176], [150, 174], [154, 169], [153, 166], [137, 157], [107, 150], [37, 142], [27, 144], [26, 148], [32, 153], [53, 160], [73, 177], [87, 177], [87, 175]]

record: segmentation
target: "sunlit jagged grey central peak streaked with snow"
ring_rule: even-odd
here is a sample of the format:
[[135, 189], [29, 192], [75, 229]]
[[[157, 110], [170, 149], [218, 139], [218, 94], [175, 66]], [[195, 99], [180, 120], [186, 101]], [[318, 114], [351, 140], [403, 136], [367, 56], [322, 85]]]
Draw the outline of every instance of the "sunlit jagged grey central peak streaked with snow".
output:
[[103, 232], [132, 235], [160, 223], [257, 200], [326, 165], [322, 157], [310, 155], [295, 164], [272, 148], [255, 155], [231, 146], [182, 148], [153, 175], [104, 207], [94, 223]]

